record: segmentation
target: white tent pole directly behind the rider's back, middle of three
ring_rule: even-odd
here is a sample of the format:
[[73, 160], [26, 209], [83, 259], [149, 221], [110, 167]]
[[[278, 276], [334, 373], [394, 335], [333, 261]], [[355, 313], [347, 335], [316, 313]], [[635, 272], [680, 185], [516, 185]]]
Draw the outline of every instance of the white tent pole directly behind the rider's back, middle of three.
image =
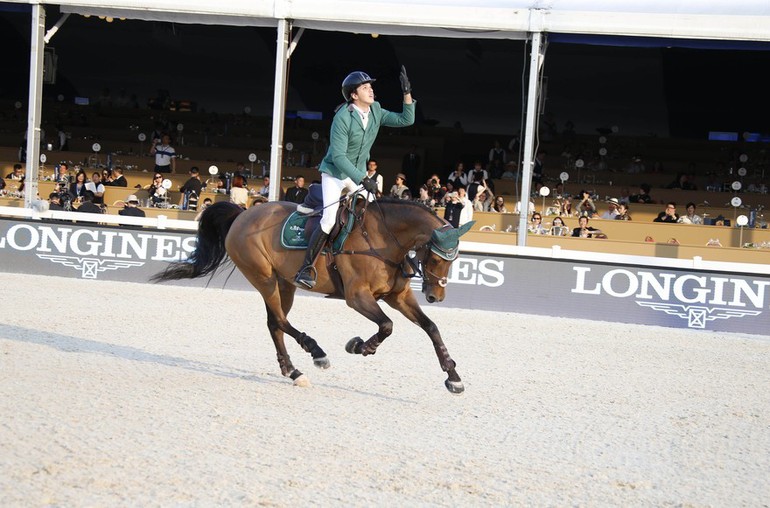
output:
[[290, 31], [289, 21], [279, 19], [278, 44], [275, 52], [275, 86], [273, 88], [273, 132], [270, 140], [270, 201], [277, 201], [281, 194], [283, 126], [286, 118], [286, 69]]

